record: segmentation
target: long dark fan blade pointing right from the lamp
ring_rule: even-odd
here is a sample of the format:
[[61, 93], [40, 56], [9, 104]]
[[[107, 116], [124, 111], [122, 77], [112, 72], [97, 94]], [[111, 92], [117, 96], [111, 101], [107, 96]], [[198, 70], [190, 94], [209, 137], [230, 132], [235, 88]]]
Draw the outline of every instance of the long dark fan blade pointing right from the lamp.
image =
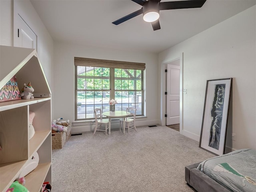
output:
[[160, 2], [160, 10], [200, 8], [206, 0]]

